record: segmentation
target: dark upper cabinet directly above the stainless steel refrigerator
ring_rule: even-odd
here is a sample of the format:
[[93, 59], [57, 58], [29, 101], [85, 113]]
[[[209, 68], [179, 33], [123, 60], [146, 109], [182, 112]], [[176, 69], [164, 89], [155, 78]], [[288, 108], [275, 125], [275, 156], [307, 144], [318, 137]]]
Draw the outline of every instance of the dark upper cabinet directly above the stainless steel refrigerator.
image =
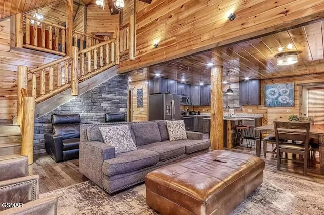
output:
[[177, 81], [167, 78], [154, 78], [149, 80], [149, 93], [177, 94]]

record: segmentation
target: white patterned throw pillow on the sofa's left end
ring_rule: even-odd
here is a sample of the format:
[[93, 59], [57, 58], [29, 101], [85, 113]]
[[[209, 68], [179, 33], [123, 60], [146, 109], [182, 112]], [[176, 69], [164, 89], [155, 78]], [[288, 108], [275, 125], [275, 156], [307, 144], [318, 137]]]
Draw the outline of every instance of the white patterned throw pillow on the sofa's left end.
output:
[[136, 150], [128, 125], [99, 127], [103, 141], [115, 147], [115, 153]]

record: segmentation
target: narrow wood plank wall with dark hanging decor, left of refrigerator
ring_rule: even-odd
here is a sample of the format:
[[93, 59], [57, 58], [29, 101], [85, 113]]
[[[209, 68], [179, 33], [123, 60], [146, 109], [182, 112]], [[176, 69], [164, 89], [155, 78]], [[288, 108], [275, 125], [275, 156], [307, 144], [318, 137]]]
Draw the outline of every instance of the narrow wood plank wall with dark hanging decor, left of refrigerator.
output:
[[[136, 89], [143, 88], [143, 108], [137, 108]], [[148, 120], [148, 84], [147, 80], [132, 82], [129, 89], [133, 89], [132, 106], [133, 122]]]

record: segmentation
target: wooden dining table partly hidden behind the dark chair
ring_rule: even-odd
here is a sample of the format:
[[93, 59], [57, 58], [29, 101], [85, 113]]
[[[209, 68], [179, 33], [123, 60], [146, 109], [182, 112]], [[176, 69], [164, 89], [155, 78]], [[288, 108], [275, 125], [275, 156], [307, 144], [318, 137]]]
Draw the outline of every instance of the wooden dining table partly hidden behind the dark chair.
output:
[[[256, 127], [255, 138], [256, 138], [256, 154], [258, 157], [261, 155], [261, 139], [263, 134], [275, 134], [274, 125], [265, 125]], [[318, 140], [319, 144], [319, 162], [320, 162], [320, 173], [324, 173], [324, 124], [311, 124], [309, 130], [309, 137]]]

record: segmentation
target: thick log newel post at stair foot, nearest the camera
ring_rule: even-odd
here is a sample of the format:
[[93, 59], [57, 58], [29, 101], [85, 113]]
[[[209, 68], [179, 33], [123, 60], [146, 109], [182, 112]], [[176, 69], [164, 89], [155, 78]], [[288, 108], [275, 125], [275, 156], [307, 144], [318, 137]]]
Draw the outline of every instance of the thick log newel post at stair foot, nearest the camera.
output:
[[35, 98], [24, 97], [23, 102], [21, 155], [28, 156], [28, 164], [32, 164], [34, 160]]

